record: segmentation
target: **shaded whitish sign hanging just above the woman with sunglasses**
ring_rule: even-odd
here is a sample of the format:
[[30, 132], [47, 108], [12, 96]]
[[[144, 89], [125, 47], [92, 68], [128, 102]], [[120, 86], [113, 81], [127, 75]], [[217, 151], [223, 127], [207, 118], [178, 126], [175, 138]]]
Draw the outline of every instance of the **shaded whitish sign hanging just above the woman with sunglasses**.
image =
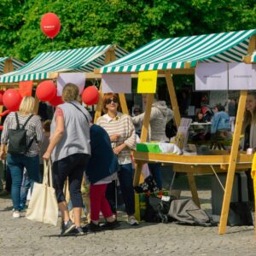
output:
[[131, 93], [131, 74], [102, 74], [102, 92]]

